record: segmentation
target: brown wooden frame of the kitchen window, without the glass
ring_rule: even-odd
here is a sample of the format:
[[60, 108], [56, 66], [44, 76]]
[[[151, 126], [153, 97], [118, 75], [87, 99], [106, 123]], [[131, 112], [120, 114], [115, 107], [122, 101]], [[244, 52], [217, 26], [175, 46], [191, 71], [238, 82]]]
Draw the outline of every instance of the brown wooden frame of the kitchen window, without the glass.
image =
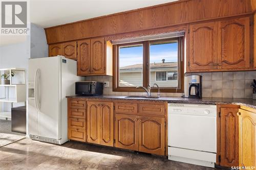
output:
[[[178, 87], [160, 87], [160, 92], [184, 92], [184, 37], [175, 37], [161, 40], [147, 40], [132, 43], [123, 43], [113, 45], [113, 91], [116, 92], [144, 92], [143, 89], [133, 87], [119, 86], [119, 47], [126, 45], [143, 44], [143, 87], [150, 83], [150, 43], [161, 43], [168, 41], [178, 41]], [[167, 74], [167, 73], [166, 73]], [[166, 75], [167, 76], [167, 75]], [[170, 80], [171, 81], [171, 80]], [[157, 92], [157, 87], [152, 87], [151, 92]]]

